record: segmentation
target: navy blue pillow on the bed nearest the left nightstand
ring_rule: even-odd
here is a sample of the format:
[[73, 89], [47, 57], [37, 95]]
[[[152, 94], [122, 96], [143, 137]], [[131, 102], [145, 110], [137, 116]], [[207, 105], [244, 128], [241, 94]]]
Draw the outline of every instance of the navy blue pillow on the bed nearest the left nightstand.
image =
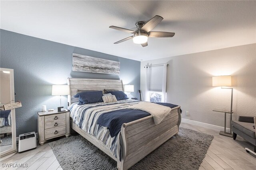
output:
[[79, 98], [79, 105], [82, 104], [91, 104], [91, 103], [100, 103], [102, 100], [103, 93], [102, 91], [93, 91], [93, 92], [81, 92], [74, 96], [74, 98]]

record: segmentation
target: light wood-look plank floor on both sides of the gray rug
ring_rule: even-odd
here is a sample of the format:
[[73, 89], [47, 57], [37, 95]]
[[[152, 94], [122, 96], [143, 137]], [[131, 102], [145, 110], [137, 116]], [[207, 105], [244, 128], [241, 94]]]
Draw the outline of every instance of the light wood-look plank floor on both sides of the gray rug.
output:
[[[218, 131], [181, 123], [180, 127], [214, 135], [212, 144], [204, 158], [200, 170], [256, 170], [256, 156], [245, 151], [244, 147], [252, 149], [247, 141], [237, 136], [236, 141], [230, 137], [219, 135]], [[46, 143], [34, 150], [17, 153], [2, 163], [28, 164], [27, 168], [2, 168], [1, 170], [62, 170], [58, 160]]]

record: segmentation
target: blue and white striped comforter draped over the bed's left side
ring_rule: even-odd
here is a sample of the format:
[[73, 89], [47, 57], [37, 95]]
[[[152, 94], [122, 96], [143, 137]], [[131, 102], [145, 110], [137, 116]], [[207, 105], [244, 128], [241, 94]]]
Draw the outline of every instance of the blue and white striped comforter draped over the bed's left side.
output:
[[78, 125], [78, 127], [102, 141], [116, 158], [121, 159], [122, 149], [120, 145], [120, 132], [115, 137], [111, 137], [107, 127], [97, 125], [97, 119], [103, 113], [125, 109], [126, 107], [138, 104], [139, 102], [140, 101], [138, 100], [128, 99], [112, 103], [94, 103], [85, 105], [73, 103], [69, 107], [70, 117], [72, 117], [72, 121]]

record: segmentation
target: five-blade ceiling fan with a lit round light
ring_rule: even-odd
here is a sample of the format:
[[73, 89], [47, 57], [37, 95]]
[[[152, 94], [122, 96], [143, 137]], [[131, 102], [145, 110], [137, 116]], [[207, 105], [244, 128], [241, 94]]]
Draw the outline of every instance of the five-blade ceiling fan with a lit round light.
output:
[[135, 24], [135, 26], [137, 27], [137, 29], [135, 31], [126, 29], [126, 28], [110, 26], [110, 28], [112, 28], [112, 29], [116, 29], [119, 31], [124, 31], [124, 32], [133, 34], [130, 37], [127, 37], [125, 39], [115, 42], [114, 44], [122, 43], [129, 39], [132, 39], [134, 43], [141, 44], [142, 47], [146, 47], [148, 45], [148, 37], [173, 37], [175, 33], [151, 31], [163, 19], [164, 18], [162, 18], [161, 16], [154, 16], [147, 23], [145, 23], [144, 21], [138, 21]]

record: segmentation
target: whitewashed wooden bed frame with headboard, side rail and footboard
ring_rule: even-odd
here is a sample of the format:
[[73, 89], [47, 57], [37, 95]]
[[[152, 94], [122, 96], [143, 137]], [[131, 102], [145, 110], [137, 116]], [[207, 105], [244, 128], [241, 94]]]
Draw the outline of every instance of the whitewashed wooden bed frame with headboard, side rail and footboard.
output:
[[[78, 102], [78, 98], [74, 98], [77, 90], [104, 90], [116, 89], [123, 91], [122, 80], [106, 80], [106, 79], [86, 79], [86, 78], [68, 78], [70, 86], [70, 95], [68, 102], [70, 105]], [[100, 150], [108, 154], [117, 162], [119, 170], [126, 170], [136, 164], [150, 152], [158, 148], [173, 135], [178, 133], [181, 122], [180, 106], [172, 108], [170, 113], [164, 120], [156, 125], [152, 115], [141, 119], [123, 123], [120, 130], [120, 145], [122, 146], [122, 157], [118, 158], [113, 155], [112, 151], [102, 143], [97, 137], [90, 135], [87, 131], [82, 130], [70, 118], [70, 127], [90, 141]]]

